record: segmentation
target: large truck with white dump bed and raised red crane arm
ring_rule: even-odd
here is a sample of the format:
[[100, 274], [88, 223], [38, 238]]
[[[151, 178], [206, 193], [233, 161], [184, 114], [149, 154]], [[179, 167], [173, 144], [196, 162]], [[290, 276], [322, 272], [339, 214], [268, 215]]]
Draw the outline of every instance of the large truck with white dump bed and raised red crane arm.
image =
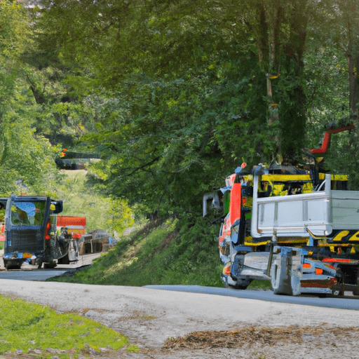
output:
[[[330, 134], [311, 154], [325, 154]], [[245, 168], [203, 198], [203, 215], [208, 202], [224, 208], [218, 243], [226, 287], [260, 279], [274, 294], [359, 295], [359, 191], [348, 191], [348, 176], [318, 166]]]

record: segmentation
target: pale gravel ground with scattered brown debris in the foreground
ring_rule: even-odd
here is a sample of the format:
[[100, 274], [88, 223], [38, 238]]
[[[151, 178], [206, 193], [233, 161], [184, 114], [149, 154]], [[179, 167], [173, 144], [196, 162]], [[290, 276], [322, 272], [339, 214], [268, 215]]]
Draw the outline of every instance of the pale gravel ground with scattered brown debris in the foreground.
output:
[[[359, 311], [142, 287], [22, 280], [0, 280], [0, 294], [46, 304], [60, 313], [80, 313], [140, 347], [139, 353], [90, 353], [90, 358], [359, 358]], [[2, 358], [15, 357], [30, 358], [25, 354]]]

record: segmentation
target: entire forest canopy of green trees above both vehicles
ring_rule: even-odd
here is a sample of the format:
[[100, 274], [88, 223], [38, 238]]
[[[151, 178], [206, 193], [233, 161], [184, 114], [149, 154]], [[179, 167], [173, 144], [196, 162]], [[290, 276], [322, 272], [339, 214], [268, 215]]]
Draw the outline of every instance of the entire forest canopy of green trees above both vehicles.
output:
[[55, 193], [54, 159], [86, 145], [88, 183], [145, 211], [201, 211], [242, 162], [327, 166], [358, 148], [354, 0], [2, 1], [1, 192]]

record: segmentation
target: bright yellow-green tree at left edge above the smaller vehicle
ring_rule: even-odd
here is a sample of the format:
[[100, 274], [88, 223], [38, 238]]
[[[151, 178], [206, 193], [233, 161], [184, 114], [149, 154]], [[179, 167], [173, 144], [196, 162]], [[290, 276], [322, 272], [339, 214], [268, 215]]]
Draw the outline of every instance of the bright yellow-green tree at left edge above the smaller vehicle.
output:
[[20, 191], [51, 193], [55, 172], [48, 142], [34, 135], [36, 112], [22, 76], [22, 53], [31, 46], [29, 17], [19, 4], [0, 4], [0, 191], [2, 196]]

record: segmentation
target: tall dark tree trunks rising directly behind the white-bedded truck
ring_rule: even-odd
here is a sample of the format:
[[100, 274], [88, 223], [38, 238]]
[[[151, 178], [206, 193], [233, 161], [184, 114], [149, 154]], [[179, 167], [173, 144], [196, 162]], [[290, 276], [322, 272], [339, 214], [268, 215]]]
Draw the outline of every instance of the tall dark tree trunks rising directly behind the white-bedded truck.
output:
[[304, 145], [306, 96], [302, 79], [308, 1], [272, 0], [257, 5], [257, 46], [266, 73], [268, 121], [270, 126], [279, 123], [280, 134], [274, 140], [280, 158], [290, 163], [298, 160]]

